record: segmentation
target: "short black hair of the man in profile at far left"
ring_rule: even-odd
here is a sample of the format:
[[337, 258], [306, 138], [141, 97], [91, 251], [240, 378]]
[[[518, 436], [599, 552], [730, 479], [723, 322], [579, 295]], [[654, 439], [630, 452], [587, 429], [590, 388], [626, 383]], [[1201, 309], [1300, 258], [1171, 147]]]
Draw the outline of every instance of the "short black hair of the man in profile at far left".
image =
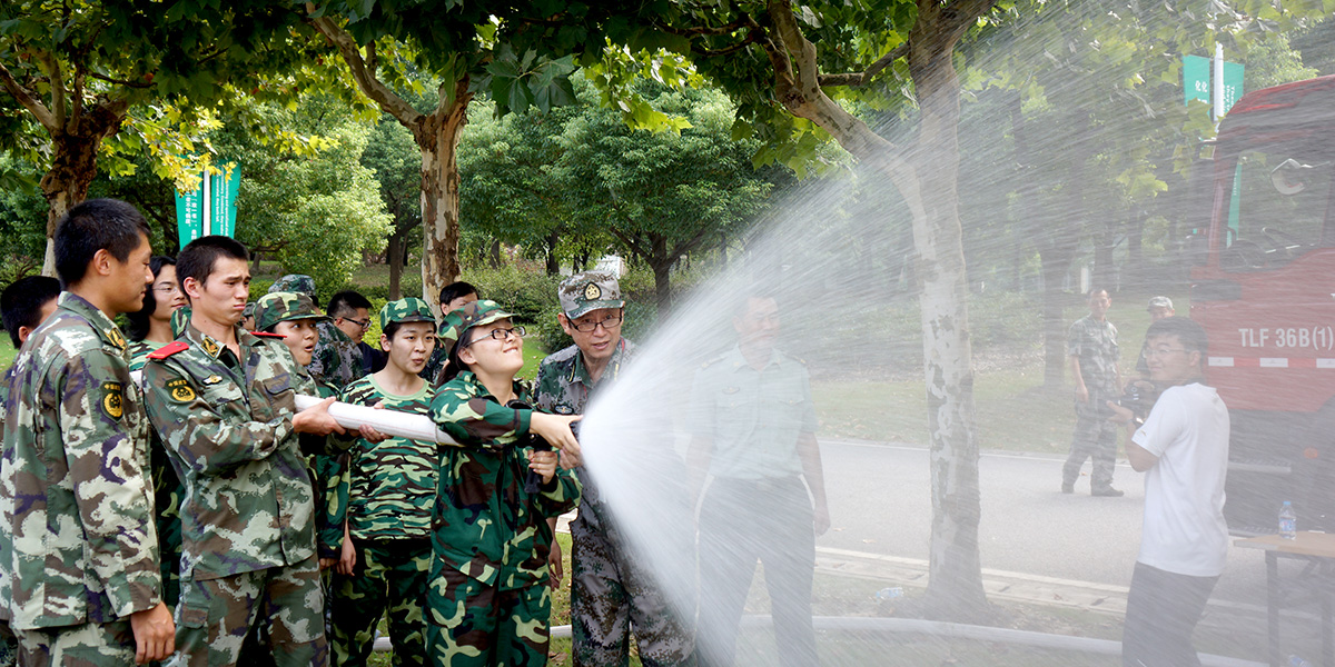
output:
[[56, 223], [56, 275], [65, 287], [88, 273], [93, 255], [105, 249], [116, 261], [125, 261], [150, 236], [148, 223], [139, 211], [119, 199], [89, 199]]

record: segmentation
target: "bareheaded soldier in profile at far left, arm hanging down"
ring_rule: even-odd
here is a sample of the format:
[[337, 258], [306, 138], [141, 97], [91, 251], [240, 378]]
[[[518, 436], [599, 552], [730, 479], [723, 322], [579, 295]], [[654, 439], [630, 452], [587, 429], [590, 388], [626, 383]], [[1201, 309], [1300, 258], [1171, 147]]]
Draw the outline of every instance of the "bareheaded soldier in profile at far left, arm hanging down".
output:
[[84, 201], [60, 220], [55, 251], [67, 292], [19, 352], [7, 404], [0, 599], [20, 664], [160, 660], [174, 626], [148, 423], [112, 321], [143, 305], [148, 225], [124, 201]]

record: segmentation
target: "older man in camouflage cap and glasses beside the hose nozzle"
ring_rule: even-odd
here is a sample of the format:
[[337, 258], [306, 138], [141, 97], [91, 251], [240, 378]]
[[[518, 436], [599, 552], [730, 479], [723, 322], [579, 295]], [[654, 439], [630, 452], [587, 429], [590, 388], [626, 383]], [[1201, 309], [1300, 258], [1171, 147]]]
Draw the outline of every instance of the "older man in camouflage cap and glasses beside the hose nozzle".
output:
[[[617, 380], [634, 346], [621, 336], [626, 301], [614, 275], [601, 271], [573, 275], [561, 283], [558, 297], [563, 312], [557, 319], [574, 344], [542, 360], [534, 395], [539, 410], [579, 415], [591, 392]], [[665, 448], [670, 452], [672, 443]], [[673, 463], [681, 467], [681, 462]], [[668, 470], [655, 472], [672, 476]], [[581, 467], [575, 474], [583, 491], [579, 515], [570, 524], [574, 664], [629, 664], [631, 627], [643, 664], [688, 662], [694, 647], [690, 631], [673, 612], [651, 575], [629, 558], [587, 468]], [[685, 499], [682, 488], [684, 506]], [[553, 579], [559, 582], [561, 547], [555, 540], [550, 562]]]

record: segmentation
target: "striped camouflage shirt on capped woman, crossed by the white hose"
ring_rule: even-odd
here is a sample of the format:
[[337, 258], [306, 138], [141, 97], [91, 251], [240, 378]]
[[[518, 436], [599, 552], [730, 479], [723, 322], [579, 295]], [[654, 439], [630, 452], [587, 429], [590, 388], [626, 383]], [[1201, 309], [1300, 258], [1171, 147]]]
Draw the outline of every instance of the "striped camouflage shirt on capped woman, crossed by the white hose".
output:
[[[431, 410], [431, 383], [411, 396], [387, 394], [366, 376], [343, 390], [343, 402], [384, 410], [427, 415]], [[355, 539], [425, 539], [431, 536], [431, 507], [435, 503], [437, 447], [406, 438], [382, 443], [356, 440], [350, 463], [347, 504], [348, 534]]]

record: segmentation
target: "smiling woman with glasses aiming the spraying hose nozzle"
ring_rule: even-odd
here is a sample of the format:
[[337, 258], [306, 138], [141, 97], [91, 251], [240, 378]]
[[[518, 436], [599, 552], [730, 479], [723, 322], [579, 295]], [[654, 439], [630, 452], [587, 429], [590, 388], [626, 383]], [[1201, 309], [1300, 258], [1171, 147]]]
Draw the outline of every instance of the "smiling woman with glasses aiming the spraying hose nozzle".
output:
[[[515, 382], [523, 327], [495, 301], [446, 315], [446, 380], [431, 419], [457, 440], [442, 446], [431, 520], [427, 654], [434, 666], [546, 664], [551, 590], [549, 518], [579, 500], [579, 483], [558, 468], [579, 444], [577, 418], [529, 407]], [[537, 435], [545, 442], [537, 442]]]

